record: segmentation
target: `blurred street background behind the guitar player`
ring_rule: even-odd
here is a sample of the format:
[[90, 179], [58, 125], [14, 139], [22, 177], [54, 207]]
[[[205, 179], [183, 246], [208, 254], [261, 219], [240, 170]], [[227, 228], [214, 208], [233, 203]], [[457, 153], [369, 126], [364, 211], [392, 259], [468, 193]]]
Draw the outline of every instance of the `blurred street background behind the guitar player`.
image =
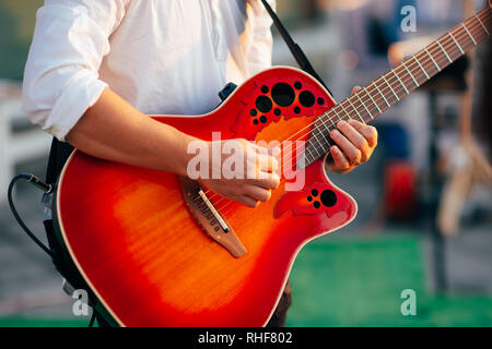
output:
[[[487, 1], [277, 2], [294, 39], [342, 100]], [[14, 173], [44, 177], [46, 170], [50, 136], [21, 111], [42, 4], [0, 0], [0, 326], [86, 326], [90, 316], [72, 314], [62, 278], [7, 204]], [[405, 5], [415, 9], [414, 32], [401, 29]], [[273, 33], [274, 64], [295, 65]], [[289, 326], [492, 325], [491, 46], [489, 39], [382, 116], [371, 161], [330, 176], [358, 201], [359, 215], [298, 254]], [[20, 183], [14, 200], [46, 241], [39, 192]], [[405, 290], [414, 291], [414, 315], [401, 312]]]

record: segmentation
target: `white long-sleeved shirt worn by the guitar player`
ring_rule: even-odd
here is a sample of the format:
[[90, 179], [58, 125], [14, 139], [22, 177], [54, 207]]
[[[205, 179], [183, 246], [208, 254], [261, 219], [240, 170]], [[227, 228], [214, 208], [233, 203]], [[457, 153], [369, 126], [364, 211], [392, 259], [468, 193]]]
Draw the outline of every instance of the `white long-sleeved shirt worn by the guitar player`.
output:
[[60, 141], [106, 86], [147, 115], [208, 112], [270, 67], [270, 26], [259, 0], [46, 0], [23, 109]]

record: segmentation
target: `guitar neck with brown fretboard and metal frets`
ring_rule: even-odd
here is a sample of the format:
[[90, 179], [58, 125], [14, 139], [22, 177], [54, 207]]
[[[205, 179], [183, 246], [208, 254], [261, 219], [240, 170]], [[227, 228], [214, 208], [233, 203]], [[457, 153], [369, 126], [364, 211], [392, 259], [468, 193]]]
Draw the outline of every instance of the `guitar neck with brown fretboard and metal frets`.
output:
[[355, 119], [364, 123], [372, 122], [412, 91], [485, 40], [491, 32], [492, 10], [488, 8], [319, 116], [306, 145], [306, 165], [316, 161], [330, 148], [329, 133], [336, 129], [338, 121]]

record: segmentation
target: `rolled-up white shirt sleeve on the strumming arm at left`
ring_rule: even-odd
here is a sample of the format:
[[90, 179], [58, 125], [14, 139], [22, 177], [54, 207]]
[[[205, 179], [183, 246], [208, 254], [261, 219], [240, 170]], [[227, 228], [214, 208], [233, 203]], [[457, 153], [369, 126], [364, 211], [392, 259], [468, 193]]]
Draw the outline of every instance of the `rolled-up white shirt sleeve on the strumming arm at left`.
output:
[[127, 1], [46, 0], [37, 11], [22, 108], [60, 141], [107, 86], [97, 71]]

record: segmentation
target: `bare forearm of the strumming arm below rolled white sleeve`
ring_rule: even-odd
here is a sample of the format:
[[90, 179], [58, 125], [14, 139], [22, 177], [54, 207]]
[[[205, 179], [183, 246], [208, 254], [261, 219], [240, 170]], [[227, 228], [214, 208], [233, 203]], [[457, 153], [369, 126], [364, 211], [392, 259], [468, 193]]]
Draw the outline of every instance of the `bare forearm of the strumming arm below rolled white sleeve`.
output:
[[187, 147], [195, 139], [143, 115], [106, 88], [66, 140], [98, 158], [186, 176]]

